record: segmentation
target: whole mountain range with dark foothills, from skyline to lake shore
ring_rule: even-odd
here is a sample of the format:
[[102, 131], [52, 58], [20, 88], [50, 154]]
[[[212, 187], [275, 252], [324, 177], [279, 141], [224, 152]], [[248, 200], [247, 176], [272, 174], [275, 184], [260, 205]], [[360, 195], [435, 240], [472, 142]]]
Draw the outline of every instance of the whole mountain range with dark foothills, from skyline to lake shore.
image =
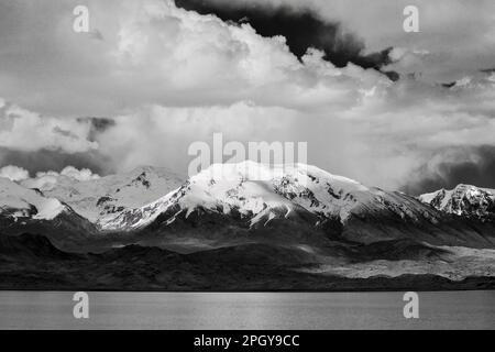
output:
[[[86, 182], [0, 178], [0, 277], [2, 288], [40, 289], [490, 288], [494, 195], [460, 185], [416, 198], [252, 162], [187, 180], [154, 167]], [[64, 255], [36, 257], [36, 243]], [[122, 267], [106, 262], [114, 256]], [[45, 262], [53, 272], [35, 265]]]

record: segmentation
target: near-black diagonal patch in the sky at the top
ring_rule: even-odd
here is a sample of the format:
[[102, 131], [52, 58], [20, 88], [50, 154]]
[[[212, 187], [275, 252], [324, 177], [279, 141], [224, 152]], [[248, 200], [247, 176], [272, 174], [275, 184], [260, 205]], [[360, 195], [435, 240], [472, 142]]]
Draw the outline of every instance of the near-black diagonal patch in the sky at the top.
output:
[[[283, 35], [287, 40], [290, 52], [299, 59], [309, 47], [324, 52], [324, 59], [337, 67], [349, 63], [363, 68], [381, 70], [392, 64], [389, 52], [364, 55], [364, 43], [351, 33], [344, 33], [338, 22], [323, 21], [311, 9], [293, 9], [288, 6], [260, 6], [257, 3], [226, 3], [205, 0], [175, 0], [186, 10], [200, 14], [215, 14], [226, 22], [249, 23], [262, 36]], [[384, 72], [392, 80], [397, 80], [395, 72]]]

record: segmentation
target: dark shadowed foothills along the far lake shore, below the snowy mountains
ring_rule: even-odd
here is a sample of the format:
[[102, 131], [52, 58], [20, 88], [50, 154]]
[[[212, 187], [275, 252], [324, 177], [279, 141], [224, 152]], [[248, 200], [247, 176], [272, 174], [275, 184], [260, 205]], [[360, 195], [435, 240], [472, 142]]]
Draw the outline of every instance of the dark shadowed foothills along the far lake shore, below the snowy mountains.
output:
[[[477, 256], [476, 265], [460, 276], [450, 276], [458, 254], [414, 243], [382, 243], [377, 256], [387, 275], [376, 271], [367, 245], [348, 249], [334, 265], [321, 265], [318, 257], [282, 246], [245, 244], [180, 254], [158, 248], [129, 245], [100, 254], [59, 251], [45, 238], [31, 234], [0, 237], [0, 289], [43, 290], [431, 290], [493, 289], [490, 262]], [[389, 257], [383, 249], [394, 249]], [[433, 274], [418, 272], [394, 261], [394, 255], [413, 263], [437, 265]], [[385, 256], [384, 256], [385, 255]], [[493, 255], [493, 254], [492, 254]], [[43, 263], [43, 265], [40, 265]], [[492, 262], [493, 264], [493, 262]], [[403, 272], [397, 270], [403, 267]], [[493, 267], [493, 266], [492, 266]], [[395, 268], [395, 270], [394, 270]], [[415, 270], [418, 270], [417, 267]], [[490, 270], [490, 266], [488, 266]], [[458, 273], [459, 274], [459, 273]]]

